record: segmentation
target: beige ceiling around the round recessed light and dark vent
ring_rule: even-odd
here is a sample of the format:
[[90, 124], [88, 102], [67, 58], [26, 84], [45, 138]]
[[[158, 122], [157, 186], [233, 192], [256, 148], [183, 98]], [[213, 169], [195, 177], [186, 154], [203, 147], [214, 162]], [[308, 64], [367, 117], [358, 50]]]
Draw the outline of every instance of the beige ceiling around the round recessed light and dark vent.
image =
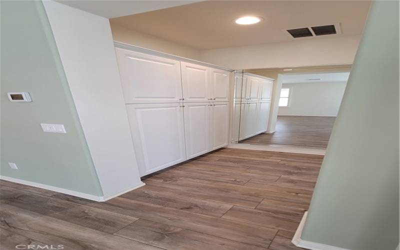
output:
[[[197, 49], [290, 41], [283, 30], [340, 23], [341, 35], [357, 35], [370, 1], [202, 1], [110, 19], [111, 24], [157, 36]], [[243, 15], [264, 18], [253, 25], [232, 20]], [[307, 37], [325, 38], [329, 35]], [[302, 38], [300, 38], [302, 39]]]

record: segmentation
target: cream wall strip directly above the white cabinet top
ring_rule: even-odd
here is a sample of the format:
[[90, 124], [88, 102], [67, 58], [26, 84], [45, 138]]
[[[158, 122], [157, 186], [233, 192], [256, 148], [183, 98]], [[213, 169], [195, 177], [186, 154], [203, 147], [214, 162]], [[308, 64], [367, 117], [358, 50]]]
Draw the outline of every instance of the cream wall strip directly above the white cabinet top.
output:
[[167, 41], [152, 35], [137, 32], [120, 25], [111, 24], [112, 38], [115, 41], [144, 47], [168, 54], [178, 55], [194, 60], [200, 60], [200, 50]]

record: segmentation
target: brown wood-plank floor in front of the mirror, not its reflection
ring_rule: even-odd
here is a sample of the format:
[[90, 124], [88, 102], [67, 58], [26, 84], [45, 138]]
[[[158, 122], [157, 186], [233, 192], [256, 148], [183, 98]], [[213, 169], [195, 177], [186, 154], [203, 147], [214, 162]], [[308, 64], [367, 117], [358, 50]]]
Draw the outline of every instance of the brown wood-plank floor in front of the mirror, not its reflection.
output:
[[323, 156], [223, 148], [95, 202], [0, 181], [1, 249], [300, 249]]

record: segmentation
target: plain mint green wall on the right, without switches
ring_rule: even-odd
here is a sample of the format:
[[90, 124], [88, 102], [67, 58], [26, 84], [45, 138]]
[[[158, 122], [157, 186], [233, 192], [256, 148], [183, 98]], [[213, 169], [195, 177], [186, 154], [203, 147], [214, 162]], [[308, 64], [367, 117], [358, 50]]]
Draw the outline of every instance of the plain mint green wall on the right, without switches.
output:
[[303, 240], [362, 250], [398, 244], [398, 7], [372, 3]]

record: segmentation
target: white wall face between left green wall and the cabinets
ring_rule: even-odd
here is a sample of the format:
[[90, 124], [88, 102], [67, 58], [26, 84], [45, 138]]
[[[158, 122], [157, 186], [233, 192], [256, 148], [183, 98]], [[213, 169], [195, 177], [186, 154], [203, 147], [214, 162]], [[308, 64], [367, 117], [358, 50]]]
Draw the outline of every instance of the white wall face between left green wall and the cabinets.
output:
[[104, 199], [142, 185], [108, 19], [43, 4]]

